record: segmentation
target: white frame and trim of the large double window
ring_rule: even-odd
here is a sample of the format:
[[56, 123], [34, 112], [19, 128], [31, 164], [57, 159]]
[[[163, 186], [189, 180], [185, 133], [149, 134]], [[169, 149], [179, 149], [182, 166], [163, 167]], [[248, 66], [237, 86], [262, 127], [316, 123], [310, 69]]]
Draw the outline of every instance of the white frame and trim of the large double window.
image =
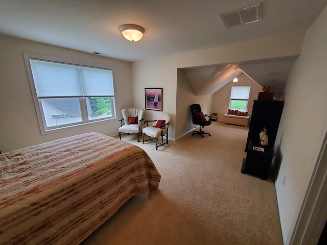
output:
[[[42, 55], [37, 55], [37, 54], [29, 54], [29, 53], [24, 53], [24, 59], [25, 59], [25, 64], [27, 68], [27, 73], [28, 73], [28, 78], [29, 78], [29, 83], [30, 83], [30, 88], [31, 88], [31, 93], [33, 97], [33, 102], [35, 106], [35, 111], [38, 119], [38, 124], [39, 128], [41, 131], [41, 135], [43, 134], [49, 134], [53, 132], [60, 132], [67, 130], [72, 127], [78, 127], [81, 125], [87, 125], [87, 124], [93, 124], [101, 121], [106, 121], [106, 120], [112, 120], [116, 119], [116, 106], [115, 106], [115, 86], [114, 86], [114, 72], [113, 69], [107, 66], [103, 65], [92, 65], [92, 64], [87, 64], [84, 62], [76, 62], [76, 61], [71, 61], [71, 60], [65, 60], [65, 59], [60, 59], [60, 58], [54, 58], [54, 57], [49, 57], [49, 56], [42, 56]], [[80, 122], [74, 122], [71, 124], [65, 124], [65, 125], [60, 125], [60, 126], [54, 126], [54, 127], [48, 127], [46, 126], [46, 120], [44, 116], [44, 111], [42, 107], [42, 102], [41, 98], [37, 96], [36, 93], [36, 88], [34, 84], [34, 79], [33, 79], [33, 73], [32, 73], [32, 68], [30, 64], [30, 59], [37, 59], [37, 60], [44, 60], [44, 61], [49, 61], [49, 62], [55, 62], [55, 63], [62, 63], [62, 64], [68, 64], [68, 65], [78, 65], [78, 66], [85, 66], [85, 67], [91, 67], [91, 68], [99, 68], [99, 69], [107, 69], [112, 71], [112, 86], [113, 86], [113, 96], [108, 96], [110, 97], [110, 103], [111, 103], [111, 116], [106, 117], [106, 118], [100, 118], [100, 119], [89, 119], [88, 118], [88, 113], [87, 113], [87, 105], [86, 105], [86, 100], [88, 97], [78, 97], [79, 98], [79, 105], [81, 109], [81, 118], [82, 121]], [[74, 96], [72, 96], [74, 97]], [[90, 96], [90, 97], [96, 97], [96, 96]], [[104, 96], [101, 96], [104, 97]]]

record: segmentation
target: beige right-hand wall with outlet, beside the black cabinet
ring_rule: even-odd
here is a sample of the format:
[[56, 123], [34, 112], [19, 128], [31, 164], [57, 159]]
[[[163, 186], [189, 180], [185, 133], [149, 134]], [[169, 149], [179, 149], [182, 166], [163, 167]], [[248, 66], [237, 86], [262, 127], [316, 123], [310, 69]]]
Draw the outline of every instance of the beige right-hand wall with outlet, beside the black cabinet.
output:
[[281, 165], [275, 186], [285, 244], [291, 240], [326, 135], [326, 23], [327, 8], [307, 31], [301, 55], [293, 66], [276, 138]]

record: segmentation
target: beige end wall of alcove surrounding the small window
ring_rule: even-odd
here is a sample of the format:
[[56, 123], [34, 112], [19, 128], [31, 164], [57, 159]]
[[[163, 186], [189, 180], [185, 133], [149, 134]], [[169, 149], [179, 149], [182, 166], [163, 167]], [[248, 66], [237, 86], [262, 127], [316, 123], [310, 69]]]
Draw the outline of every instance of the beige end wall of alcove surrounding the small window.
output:
[[217, 120], [219, 121], [222, 121], [224, 114], [227, 113], [229, 107], [230, 91], [232, 86], [251, 86], [248, 112], [249, 116], [251, 116], [252, 114], [253, 100], [258, 99], [258, 93], [262, 92], [262, 88], [257, 83], [249, 79], [248, 76], [246, 76], [245, 74], [239, 75], [238, 80], [239, 81], [237, 83], [230, 82], [226, 84], [214, 94], [211, 114], [217, 113]]

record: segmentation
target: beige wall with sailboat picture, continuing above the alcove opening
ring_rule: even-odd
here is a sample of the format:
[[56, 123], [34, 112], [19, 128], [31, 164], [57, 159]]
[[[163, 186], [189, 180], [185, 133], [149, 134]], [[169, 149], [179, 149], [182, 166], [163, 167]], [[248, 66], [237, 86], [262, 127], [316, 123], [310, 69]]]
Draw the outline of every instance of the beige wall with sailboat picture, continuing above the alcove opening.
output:
[[[176, 113], [177, 97], [177, 69], [260, 60], [276, 57], [299, 55], [305, 33], [294, 33], [285, 36], [264, 38], [218, 48], [209, 48], [195, 52], [171, 55], [151, 60], [133, 62], [133, 103], [135, 107], [144, 108], [144, 88], [162, 87], [163, 109], [172, 116], [169, 128], [169, 138], [177, 139], [186, 130], [176, 128], [176, 124], [183, 124], [185, 118], [182, 113]], [[146, 117], [155, 118], [156, 111], [146, 111]], [[176, 131], [176, 129], [178, 129]]]

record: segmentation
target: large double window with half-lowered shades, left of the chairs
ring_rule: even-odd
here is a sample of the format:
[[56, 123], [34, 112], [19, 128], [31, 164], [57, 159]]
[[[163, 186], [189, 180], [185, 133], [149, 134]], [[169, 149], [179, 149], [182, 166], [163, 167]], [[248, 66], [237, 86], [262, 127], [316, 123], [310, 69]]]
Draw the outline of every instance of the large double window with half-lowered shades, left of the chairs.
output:
[[26, 56], [41, 132], [115, 117], [112, 70]]

